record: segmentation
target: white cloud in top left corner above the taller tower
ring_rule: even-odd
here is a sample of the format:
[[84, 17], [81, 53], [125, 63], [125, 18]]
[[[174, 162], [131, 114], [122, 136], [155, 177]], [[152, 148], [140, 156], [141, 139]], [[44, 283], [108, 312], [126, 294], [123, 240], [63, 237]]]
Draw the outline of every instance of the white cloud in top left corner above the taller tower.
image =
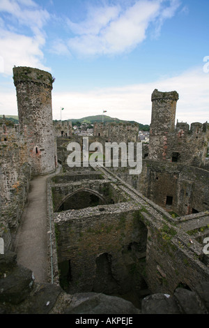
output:
[[[14, 65], [50, 70], [42, 64], [44, 54], [41, 50], [45, 45], [42, 27], [49, 20], [49, 13], [40, 9], [32, 0], [1, 0], [0, 13], [7, 14], [6, 18], [3, 20], [2, 16], [0, 21], [3, 73], [12, 75]], [[22, 29], [19, 31], [18, 27], [26, 27], [26, 33], [21, 33]]]

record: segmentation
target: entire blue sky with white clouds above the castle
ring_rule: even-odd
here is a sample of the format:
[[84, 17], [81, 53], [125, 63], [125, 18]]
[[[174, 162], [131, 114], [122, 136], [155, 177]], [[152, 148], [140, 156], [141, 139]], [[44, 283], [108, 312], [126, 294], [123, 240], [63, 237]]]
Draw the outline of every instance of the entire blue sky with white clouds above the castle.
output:
[[208, 13], [208, 0], [0, 0], [0, 114], [17, 114], [15, 65], [55, 77], [54, 119], [150, 124], [158, 89], [178, 91], [178, 121], [204, 123]]

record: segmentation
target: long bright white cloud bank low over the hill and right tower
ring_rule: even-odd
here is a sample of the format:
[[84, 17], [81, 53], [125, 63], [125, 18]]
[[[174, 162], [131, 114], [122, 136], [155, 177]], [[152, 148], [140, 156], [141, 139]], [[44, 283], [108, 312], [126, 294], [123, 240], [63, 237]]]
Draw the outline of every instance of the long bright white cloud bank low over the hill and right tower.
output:
[[177, 91], [176, 119], [204, 123], [209, 114], [209, 73], [193, 68], [176, 77], [146, 84], [127, 85], [111, 89], [96, 89], [84, 93], [52, 93], [53, 117], [60, 119], [60, 107], [64, 107], [62, 119], [79, 119], [88, 115], [102, 114], [107, 110], [110, 117], [150, 124], [151, 94], [159, 91]]

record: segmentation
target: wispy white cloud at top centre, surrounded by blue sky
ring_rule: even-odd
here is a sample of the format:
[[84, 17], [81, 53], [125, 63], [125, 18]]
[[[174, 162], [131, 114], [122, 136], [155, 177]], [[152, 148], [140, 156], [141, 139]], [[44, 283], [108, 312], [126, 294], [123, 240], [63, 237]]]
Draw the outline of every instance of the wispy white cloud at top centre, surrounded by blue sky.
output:
[[68, 27], [75, 36], [68, 40], [70, 51], [78, 54], [121, 54], [143, 42], [151, 22], [155, 34], [160, 33], [164, 20], [175, 15], [179, 0], [138, 0], [132, 6], [91, 8], [84, 22]]

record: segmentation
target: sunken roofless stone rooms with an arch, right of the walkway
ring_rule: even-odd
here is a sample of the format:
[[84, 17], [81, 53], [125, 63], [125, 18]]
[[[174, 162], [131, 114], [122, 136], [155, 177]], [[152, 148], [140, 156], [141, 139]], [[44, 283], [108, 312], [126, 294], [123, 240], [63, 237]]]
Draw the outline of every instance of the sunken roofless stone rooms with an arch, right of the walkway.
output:
[[66, 292], [102, 292], [140, 308], [148, 229], [130, 195], [100, 170], [51, 179], [59, 283]]

